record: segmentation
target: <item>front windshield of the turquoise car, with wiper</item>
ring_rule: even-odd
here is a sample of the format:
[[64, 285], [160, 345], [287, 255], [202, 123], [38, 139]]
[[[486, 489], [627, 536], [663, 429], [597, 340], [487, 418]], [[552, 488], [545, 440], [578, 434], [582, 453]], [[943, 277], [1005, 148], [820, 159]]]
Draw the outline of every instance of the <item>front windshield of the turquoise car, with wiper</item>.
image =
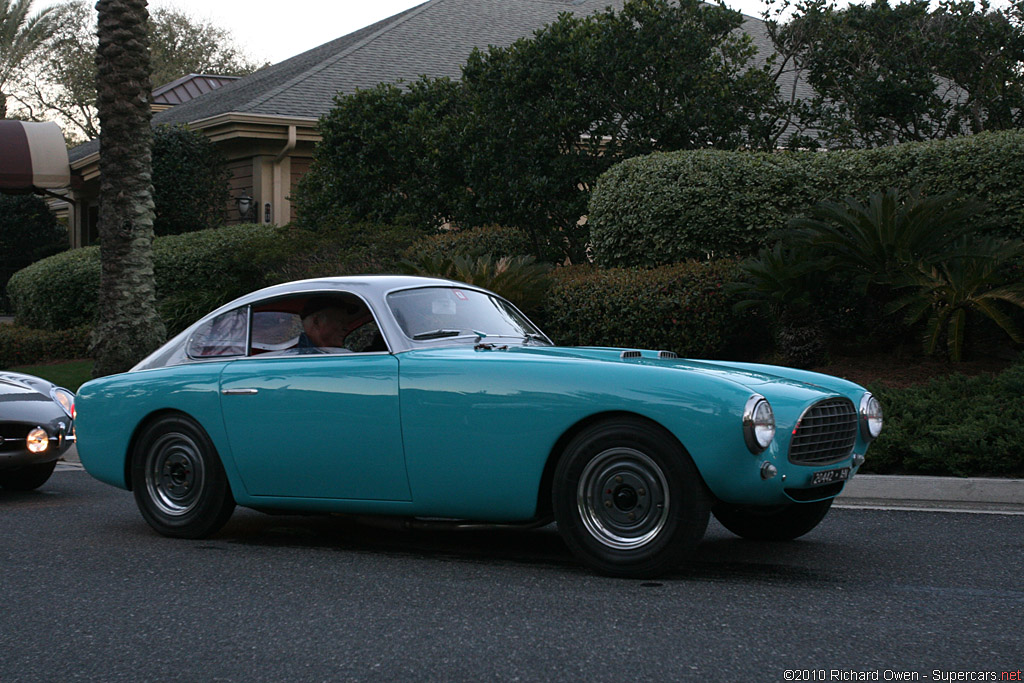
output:
[[525, 342], [548, 339], [504, 299], [455, 287], [424, 287], [387, 297], [394, 319], [416, 341], [458, 337], [512, 337]]

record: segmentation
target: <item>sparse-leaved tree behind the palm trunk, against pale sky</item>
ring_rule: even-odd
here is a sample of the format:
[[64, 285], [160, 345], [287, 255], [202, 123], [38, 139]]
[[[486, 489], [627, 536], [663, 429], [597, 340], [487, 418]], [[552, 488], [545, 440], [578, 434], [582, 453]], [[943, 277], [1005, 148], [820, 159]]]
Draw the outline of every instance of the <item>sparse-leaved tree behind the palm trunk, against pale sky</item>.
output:
[[[35, 118], [57, 120], [73, 139], [93, 139], [96, 120], [95, 12], [90, 0], [68, 0], [53, 11], [55, 31], [20, 88], [19, 101]], [[244, 76], [264, 65], [244, 54], [226, 29], [173, 7], [155, 9], [148, 23], [151, 82], [188, 74]]]

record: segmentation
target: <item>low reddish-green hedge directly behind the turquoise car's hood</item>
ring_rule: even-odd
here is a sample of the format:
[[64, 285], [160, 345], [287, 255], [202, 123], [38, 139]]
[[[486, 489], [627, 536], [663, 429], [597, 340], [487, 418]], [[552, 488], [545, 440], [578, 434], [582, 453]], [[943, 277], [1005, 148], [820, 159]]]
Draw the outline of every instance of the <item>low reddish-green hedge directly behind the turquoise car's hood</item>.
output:
[[666, 349], [681, 356], [758, 355], [750, 315], [734, 313], [724, 285], [732, 261], [689, 261], [652, 270], [558, 268], [545, 310], [558, 344]]

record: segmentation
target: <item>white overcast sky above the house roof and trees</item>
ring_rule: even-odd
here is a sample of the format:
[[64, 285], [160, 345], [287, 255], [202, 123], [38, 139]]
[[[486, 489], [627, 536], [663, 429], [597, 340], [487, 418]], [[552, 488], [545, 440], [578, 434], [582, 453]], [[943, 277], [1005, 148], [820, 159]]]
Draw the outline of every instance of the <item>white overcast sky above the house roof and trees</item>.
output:
[[[150, 0], [150, 8], [174, 6], [228, 29], [255, 60], [278, 62], [340, 38], [423, 0]], [[513, 1], [513, 0], [509, 0]], [[33, 9], [58, 4], [36, 0]], [[729, 7], [760, 16], [762, 0], [726, 0]]]

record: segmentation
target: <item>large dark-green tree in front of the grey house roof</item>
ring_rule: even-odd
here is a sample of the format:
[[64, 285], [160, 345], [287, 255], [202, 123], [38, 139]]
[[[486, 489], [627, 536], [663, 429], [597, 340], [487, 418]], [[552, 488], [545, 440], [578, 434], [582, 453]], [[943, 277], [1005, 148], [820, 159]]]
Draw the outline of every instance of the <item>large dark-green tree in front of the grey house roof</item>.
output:
[[590, 189], [624, 157], [765, 144], [775, 89], [741, 23], [699, 0], [629, 0], [474, 51], [459, 82], [340, 97], [297, 194], [300, 221], [501, 223], [539, 253], [551, 243], [582, 259]]

